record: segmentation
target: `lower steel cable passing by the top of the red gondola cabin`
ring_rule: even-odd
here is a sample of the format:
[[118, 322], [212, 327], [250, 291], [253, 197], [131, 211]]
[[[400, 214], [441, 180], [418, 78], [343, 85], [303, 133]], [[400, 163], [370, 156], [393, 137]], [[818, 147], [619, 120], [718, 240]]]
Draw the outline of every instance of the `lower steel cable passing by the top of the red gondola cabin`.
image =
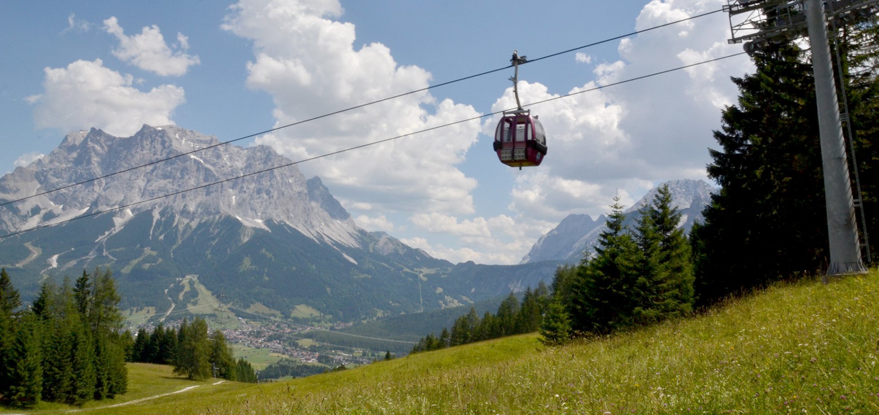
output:
[[[536, 106], [536, 105], [543, 104], [543, 103], [546, 103], [546, 102], [549, 102], [549, 101], [555, 101], [556, 99], [569, 98], [569, 97], [573, 97], [573, 96], [575, 96], [575, 95], [582, 94], [582, 93], [585, 93], [585, 92], [598, 91], [598, 90], [601, 90], [601, 89], [607, 88], [608, 86], [614, 86], [614, 85], [620, 85], [620, 84], [628, 84], [629, 82], [638, 81], [638, 80], [641, 80], [641, 79], [649, 78], [649, 77], [651, 77], [651, 76], [658, 76], [658, 75], [667, 74], [667, 73], [669, 73], [669, 72], [674, 72], [674, 71], [681, 70], [681, 69], [693, 68], [694, 66], [703, 65], [703, 64], [705, 64], [705, 63], [710, 63], [710, 62], [722, 61], [723, 59], [728, 59], [728, 58], [731, 58], [731, 57], [734, 57], [734, 56], [740, 56], [740, 55], [746, 55], [746, 53], [745, 53], [745, 52], [740, 52], [740, 53], [733, 54], [733, 55], [726, 55], [726, 56], [722, 56], [722, 57], [715, 58], [715, 59], [709, 59], [709, 60], [707, 60], [707, 61], [696, 62], [696, 63], [691, 63], [691, 64], [689, 64], [689, 65], [679, 66], [679, 67], [677, 67], [677, 68], [673, 68], [673, 69], [665, 69], [665, 70], [661, 70], [661, 71], [658, 71], [658, 72], [653, 72], [653, 73], [648, 74], [648, 75], [636, 76], [636, 77], [634, 77], [634, 78], [625, 79], [625, 80], [622, 80], [622, 81], [619, 81], [619, 82], [614, 82], [614, 83], [612, 83], [612, 84], [599, 85], [599, 86], [596, 86], [596, 87], [594, 87], [594, 88], [590, 88], [590, 89], [588, 89], [588, 90], [577, 91], [577, 92], [573, 92], [573, 93], [566, 94], [566, 95], [560, 95], [560, 96], [558, 96], [558, 97], [554, 97], [554, 98], [548, 98], [548, 99], [543, 99], [543, 100], [541, 100], [541, 101], [532, 102], [532, 103], [530, 103], [530, 104], [526, 104], [526, 105], [524, 105], [523, 107], [526, 107], [526, 106]], [[274, 170], [282, 169], [282, 168], [284, 168], [284, 167], [289, 167], [289, 166], [291, 166], [291, 165], [301, 164], [301, 163], [309, 162], [309, 161], [312, 161], [312, 160], [317, 160], [318, 158], [335, 156], [335, 155], [337, 155], [337, 154], [345, 153], [345, 152], [352, 151], [352, 150], [355, 150], [355, 149], [362, 149], [362, 148], [364, 148], [364, 147], [373, 146], [373, 145], [375, 145], [375, 144], [381, 144], [382, 142], [390, 142], [390, 141], [394, 141], [394, 140], [397, 140], [397, 139], [400, 139], [400, 138], [405, 138], [405, 137], [408, 137], [408, 136], [410, 136], [410, 135], [418, 135], [418, 134], [421, 134], [421, 133], [426, 133], [426, 132], [429, 132], [429, 131], [433, 131], [433, 130], [435, 130], [435, 129], [444, 128], [444, 127], [451, 127], [451, 126], [454, 126], [454, 125], [457, 125], [457, 124], [461, 124], [461, 123], [464, 123], [464, 122], [468, 122], [468, 121], [472, 121], [472, 120], [480, 120], [480, 119], [483, 119], [483, 118], [486, 118], [486, 117], [490, 117], [490, 116], [493, 116], [493, 115], [498, 115], [498, 114], [500, 114], [500, 113], [504, 113], [505, 111], [512, 111], [512, 108], [510, 108], [510, 109], [506, 109], [506, 110], [501, 110], [501, 111], [496, 111], [496, 112], [494, 112], [494, 113], [486, 113], [486, 114], [483, 114], [483, 115], [478, 115], [478, 116], [476, 116], [476, 117], [471, 117], [471, 118], [468, 118], [468, 119], [465, 119], [465, 120], [457, 120], [457, 121], [454, 121], [454, 122], [449, 122], [449, 123], [447, 123], [447, 124], [442, 124], [442, 125], [435, 126], [435, 127], [425, 128], [425, 129], [422, 129], [422, 130], [413, 131], [413, 132], [411, 132], [411, 133], [406, 133], [406, 134], [403, 134], [403, 135], [396, 135], [395, 137], [385, 138], [385, 139], [383, 139], [383, 140], [379, 140], [379, 141], [375, 141], [375, 142], [367, 142], [367, 143], [365, 143], [365, 144], [360, 144], [360, 145], [358, 145], [358, 146], [350, 147], [350, 148], [347, 148], [347, 149], [340, 149], [340, 150], [332, 151], [332, 152], [330, 152], [330, 153], [326, 153], [326, 154], [323, 154], [323, 155], [320, 155], [320, 156], [304, 158], [304, 159], [302, 159], [302, 160], [295, 161], [295, 162], [290, 162], [290, 163], [287, 163], [287, 164], [280, 164], [280, 165], [277, 165], [277, 166], [274, 166], [274, 167], [269, 167], [269, 168], [267, 168], [267, 169], [263, 169], [263, 170], [260, 170], [260, 171], [252, 171], [252, 172], [250, 172], [250, 173], [243, 174], [243, 175], [241, 175], [241, 176], [236, 176], [236, 177], [234, 177], [234, 178], [225, 178], [225, 179], [218, 180], [218, 181], [215, 181], [215, 182], [212, 182], [212, 183], [207, 183], [207, 184], [205, 184], [205, 185], [195, 186], [195, 187], [192, 187], [192, 188], [189, 188], [189, 189], [180, 190], [180, 191], [178, 191], [178, 192], [167, 193], [167, 194], [163, 194], [162, 196], [156, 196], [156, 197], [149, 198], [149, 199], [145, 199], [145, 200], [134, 201], [134, 202], [128, 203], [127, 205], [122, 205], [122, 206], [119, 206], [119, 207], [116, 207], [116, 208], [108, 208], [108, 209], [104, 209], [104, 210], [98, 210], [98, 211], [92, 212], [92, 213], [90, 213], [90, 214], [76, 216], [76, 217], [74, 217], [74, 218], [70, 218], [70, 219], [67, 219], [67, 220], [64, 220], [64, 221], [61, 221], [61, 222], [56, 222], [56, 223], [51, 223], [51, 224], [44, 224], [44, 225], [40, 225], [40, 226], [33, 227], [33, 228], [30, 228], [30, 229], [18, 230], [18, 231], [16, 231], [16, 232], [12, 232], [12, 233], [10, 233], [10, 234], [6, 234], [6, 235], [4, 235], [4, 236], [0, 236], [0, 239], [4, 239], [4, 238], [7, 238], [7, 237], [15, 237], [15, 236], [17, 236], [17, 235], [21, 235], [21, 234], [23, 234], [23, 233], [25, 233], [25, 232], [31, 232], [31, 231], [33, 231], [33, 230], [37, 230], [37, 229], [43, 229], [43, 228], [48, 228], [48, 227], [50, 227], [50, 226], [61, 225], [61, 224], [67, 223], [67, 222], [73, 222], [73, 221], [76, 221], [76, 220], [78, 220], [78, 219], [84, 219], [84, 218], [91, 217], [91, 216], [101, 215], [101, 214], [105, 214], [105, 213], [108, 213], [108, 212], [113, 212], [113, 211], [116, 211], [116, 210], [121, 210], [121, 209], [125, 209], [125, 208], [131, 208], [131, 207], [133, 207], [133, 206], [141, 205], [141, 204], [143, 204], [143, 203], [149, 203], [150, 201], [160, 200], [160, 199], [164, 199], [164, 198], [167, 198], [167, 197], [176, 196], [176, 195], [181, 194], [181, 193], [187, 193], [187, 192], [192, 192], [193, 190], [204, 189], [204, 188], [206, 188], [206, 187], [210, 187], [210, 186], [221, 185], [221, 184], [223, 184], [223, 183], [227, 183], [227, 182], [230, 182], [230, 181], [233, 181], [233, 180], [237, 180], [237, 179], [239, 179], [239, 178], [247, 178], [247, 177], [255, 176], [255, 175], [257, 175], [257, 174], [265, 173], [265, 172], [267, 172], [267, 171], [274, 171]]]

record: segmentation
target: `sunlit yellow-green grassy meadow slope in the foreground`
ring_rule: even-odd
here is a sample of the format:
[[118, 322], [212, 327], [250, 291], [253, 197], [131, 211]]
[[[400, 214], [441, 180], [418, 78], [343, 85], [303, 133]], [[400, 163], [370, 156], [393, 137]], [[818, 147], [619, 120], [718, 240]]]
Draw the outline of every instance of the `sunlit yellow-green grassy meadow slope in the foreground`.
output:
[[808, 281], [568, 346], [524, 335], [125, 413], [879, 413], [877, 306], [875, 272]]

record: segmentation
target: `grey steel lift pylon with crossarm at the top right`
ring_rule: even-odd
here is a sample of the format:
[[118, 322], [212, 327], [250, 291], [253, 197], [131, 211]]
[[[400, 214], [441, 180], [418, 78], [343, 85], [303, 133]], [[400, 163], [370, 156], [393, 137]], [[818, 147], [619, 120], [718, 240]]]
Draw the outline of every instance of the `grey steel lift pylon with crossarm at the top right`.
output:
[[[745, 42], [746, 52], [758, 51], [769, 42], [781, 43], [809, 36], [830, 246], [830, 264], [825, 280], [826, 276], [867, 271], [861, 261], [861, 246], [864, 244], [858, 235], [854, 213], [852, 179], [827, 40], [827, 19], [831, 18], [834, 24], [850, 24], [858, 18], [875, 14], [877, 4], [879, 0], [727, 0], [723, 7], [730, 15], [730, 43]], [[862, 209], [861, 203], [858, 205]], [[863, 225], [866, 242], [866, 223]]]

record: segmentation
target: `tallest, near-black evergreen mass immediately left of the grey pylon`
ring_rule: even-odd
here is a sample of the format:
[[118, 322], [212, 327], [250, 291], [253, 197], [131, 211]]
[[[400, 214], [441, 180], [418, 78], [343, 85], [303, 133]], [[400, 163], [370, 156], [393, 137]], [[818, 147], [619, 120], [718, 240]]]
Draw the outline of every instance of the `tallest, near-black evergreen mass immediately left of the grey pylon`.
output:
[[740, 96], [714, 132], [708, 177], [720, 186], [694, 232], [701, 303], [796, 274], [821, 273], [827, 219], [810, 64], [793, 44], [752, 55]]

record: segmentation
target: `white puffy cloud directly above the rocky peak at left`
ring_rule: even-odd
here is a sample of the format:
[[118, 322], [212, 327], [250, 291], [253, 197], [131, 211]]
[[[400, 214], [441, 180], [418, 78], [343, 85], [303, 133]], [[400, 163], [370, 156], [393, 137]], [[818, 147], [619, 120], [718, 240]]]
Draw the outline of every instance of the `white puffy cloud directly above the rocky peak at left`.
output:
[[132, 86], [134, 77], [107, 69], [100, 59], [46, 68], [45, 91], [28, 98], [37, 128], [70, 131], [98, 127], [112, 135], [134, 134], [143, 124], [173, 124], [171, 113], [185, 102], [184, 91], [161, 85], [148, 92]]

